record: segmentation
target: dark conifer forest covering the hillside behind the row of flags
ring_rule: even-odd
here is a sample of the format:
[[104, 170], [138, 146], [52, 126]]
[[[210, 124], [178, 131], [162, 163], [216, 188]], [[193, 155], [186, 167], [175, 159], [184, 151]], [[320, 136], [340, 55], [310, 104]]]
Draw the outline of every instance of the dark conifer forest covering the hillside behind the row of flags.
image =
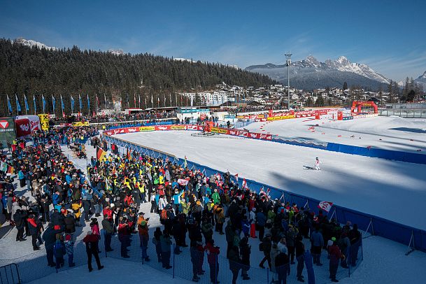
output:
[[[46, 101], [46, 113], [52, 113], [52, 95], [56, 100], [57, 115], [61, 114], [60, 95], [66, 113], [71, 112], [71, 95], [74, 112], [79, 110], [78, 95], [83, 101], [83, 113], [96, 111], [96, 96], [99, 109], [112, 107], [120, 101], [122, 107], [160, 106], [185, 104], [175, 92], [208, 90], [225, 82], [243, 87], [266, 87], [275, 84], [268, 76], [251, 73], [220, 63], [202, 63], [173, 60], [148, 53], [138, 55], [113, 55], [109, 52], [80, 50], [78, 47], [62, 50], [46, 50], [28, 47], [0, 38], [0, 99], [4, 107], [0, 115], [8, 116], [6, 95], [10, 97], [16, 112], [15, 94], [25, 113], [24, 95], [29, 103], [29, 113], [34, 113], [33, 96], [37, 113], [43, 110], [42, 95]], [[87, 108], [87, 95], [90, 110]], [[3, 105], [2, 105], [3, 106]], [[16, 114], [16, 113], [14, 113]]]

